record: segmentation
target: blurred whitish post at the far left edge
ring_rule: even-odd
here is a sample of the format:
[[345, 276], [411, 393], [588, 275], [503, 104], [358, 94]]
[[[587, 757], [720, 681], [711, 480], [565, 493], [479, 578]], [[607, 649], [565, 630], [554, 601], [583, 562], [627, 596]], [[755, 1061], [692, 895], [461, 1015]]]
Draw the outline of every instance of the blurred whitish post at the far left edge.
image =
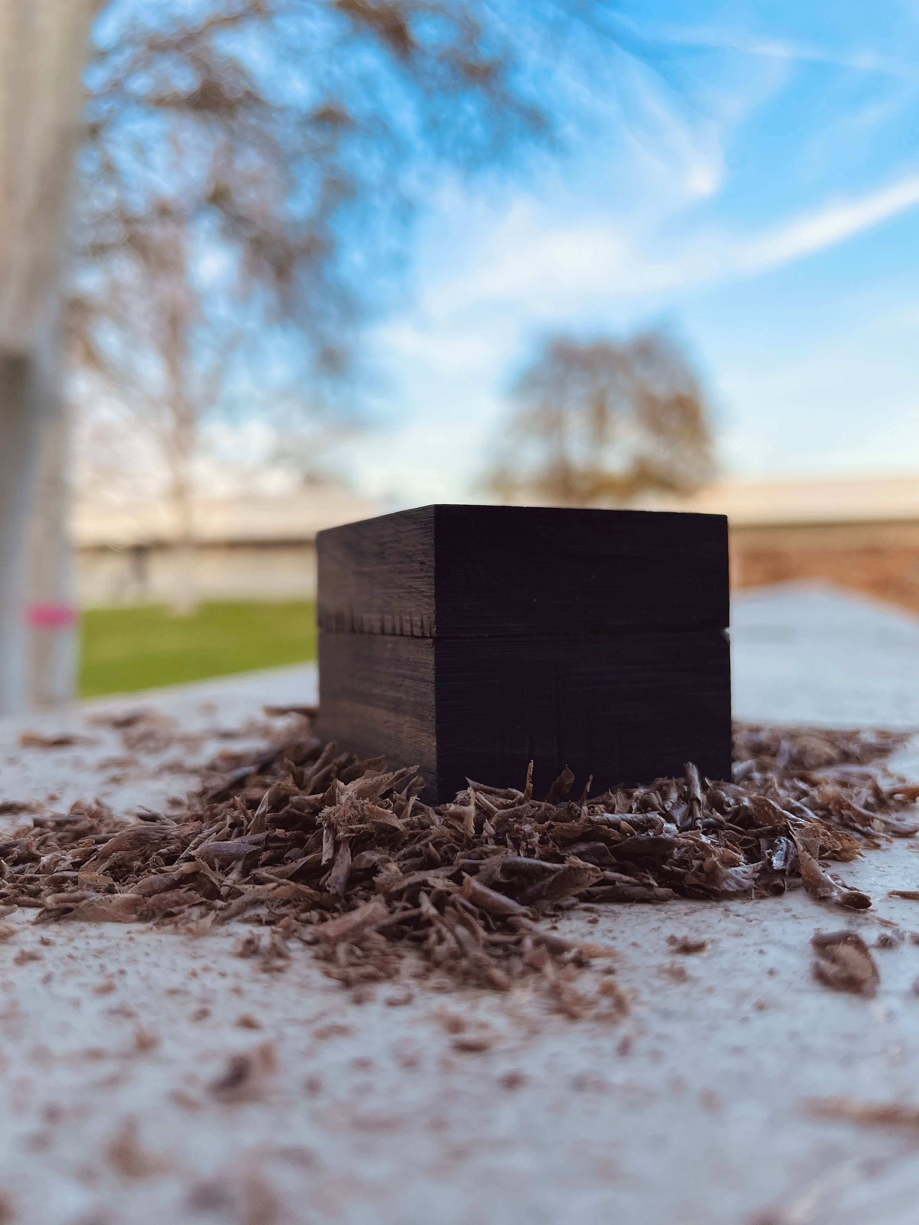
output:
[[[97, 0], [0, 0], [0, 714], [23, 710], [33, 692], [29, 584], [48, 612], [66, 604], [71, 583], [65, 430], [48, 428], [60, 415], [62, 236], [96, 7]], [[43, 462], [50, 499], [33, 521]], [[39, 701], [71, 696], [69, 650], [72, 635], [70, 644], [66, 633], [40, 644]]]

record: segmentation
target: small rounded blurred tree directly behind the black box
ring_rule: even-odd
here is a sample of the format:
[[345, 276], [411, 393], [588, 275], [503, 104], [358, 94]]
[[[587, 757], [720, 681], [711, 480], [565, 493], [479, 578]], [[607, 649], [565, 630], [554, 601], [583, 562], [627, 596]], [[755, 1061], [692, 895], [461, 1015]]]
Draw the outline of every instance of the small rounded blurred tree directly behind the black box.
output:
[[698, 376], [660, 331], [546, 341], [513, 388], [518, 403], [488, 488], [505, 501], [621, 505], [686, 496], [714, 474]]

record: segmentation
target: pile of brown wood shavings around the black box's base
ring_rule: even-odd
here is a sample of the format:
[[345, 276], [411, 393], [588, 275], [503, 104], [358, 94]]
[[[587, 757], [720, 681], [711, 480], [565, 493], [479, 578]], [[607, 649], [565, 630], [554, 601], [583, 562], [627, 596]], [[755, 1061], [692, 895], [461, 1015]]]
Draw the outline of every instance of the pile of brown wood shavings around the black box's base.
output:
[[[803, 884], [821, 902], [870, 898], [831, 875], [890, 835], [919, 829], [919, 786], [883, 771], [892, 733], [741, 726], [732, 782], [687, 764], [571, 799], [566, 769], [544, 799], [469, 782], [429, 807], [415, 769], [337, 753], [309, 734], [217, 773], [175, 817], [130, 822], [103, 806], [32, 817], [0, 839], [0, 902], [36, 921], [151, 921], [203, 935], [244, 915], [238, 943], [284, 969], [288, 942], [315, 947], [349, 987], [403, 971], [431, 986], [542, 981], [580, 1014], [578, 970], [605, 951], [562, 940], [553, 918], [583, 904], [755, 898]], [[611, 1016], [627, 1003], [605, 984]]]

